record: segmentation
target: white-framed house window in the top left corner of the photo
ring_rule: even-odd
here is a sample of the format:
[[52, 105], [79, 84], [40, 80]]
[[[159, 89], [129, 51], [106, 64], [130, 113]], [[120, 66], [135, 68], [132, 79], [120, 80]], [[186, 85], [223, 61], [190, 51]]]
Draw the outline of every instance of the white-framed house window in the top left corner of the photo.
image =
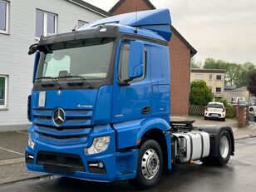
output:
[[9, 32], [9, 2], [0, 0], [0, 32]]

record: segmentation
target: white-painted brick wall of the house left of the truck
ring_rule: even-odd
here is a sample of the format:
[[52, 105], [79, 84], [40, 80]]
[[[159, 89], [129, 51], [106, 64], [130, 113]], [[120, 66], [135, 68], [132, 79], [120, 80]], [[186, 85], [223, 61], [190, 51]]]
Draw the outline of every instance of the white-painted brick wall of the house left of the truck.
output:
[[0, 130], [22, 129], [27, 121], [27, 96], [32, 89], [36, 43], [36, 9], [57, 14], [57, 32], [69, 32], [77, 21], [91, 22], [103, 16], [64, 0], [10, 0], [9, 34], [0, 33], [0, 75], [8, 76], [7, 110], [0, 111]]

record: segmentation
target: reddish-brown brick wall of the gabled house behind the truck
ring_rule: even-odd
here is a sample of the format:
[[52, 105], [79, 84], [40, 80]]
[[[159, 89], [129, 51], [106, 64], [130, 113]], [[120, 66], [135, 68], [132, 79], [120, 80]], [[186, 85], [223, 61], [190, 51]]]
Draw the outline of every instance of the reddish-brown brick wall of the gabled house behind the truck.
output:
[[[117, 7], [114, 15], [126, 12], [150, 10], [143, 0], [126, 0]], [[173, 33], [170, 47], [171, 115], [189, 115], [190, 49]]]

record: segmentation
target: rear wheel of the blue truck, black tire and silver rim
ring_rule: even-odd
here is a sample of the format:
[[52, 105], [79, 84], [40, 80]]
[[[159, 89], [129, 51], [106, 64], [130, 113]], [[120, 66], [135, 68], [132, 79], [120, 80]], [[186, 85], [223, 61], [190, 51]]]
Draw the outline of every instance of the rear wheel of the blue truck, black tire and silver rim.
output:
[[216, 161], [219, 165], [226, 165], [231, 155], [231, 137], [227, 130], [223, 130], [219, 135], [218, 156]]

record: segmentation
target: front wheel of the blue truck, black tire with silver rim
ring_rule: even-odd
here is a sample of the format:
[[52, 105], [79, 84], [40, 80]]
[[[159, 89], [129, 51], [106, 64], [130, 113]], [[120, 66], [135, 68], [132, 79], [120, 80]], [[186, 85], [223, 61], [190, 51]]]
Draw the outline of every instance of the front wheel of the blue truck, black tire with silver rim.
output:
[[155, 186], [163, 172], [163, 154], [155, 140], [146, 140], [139, 150], [137, 175], [130, 185], [140, 190]]

